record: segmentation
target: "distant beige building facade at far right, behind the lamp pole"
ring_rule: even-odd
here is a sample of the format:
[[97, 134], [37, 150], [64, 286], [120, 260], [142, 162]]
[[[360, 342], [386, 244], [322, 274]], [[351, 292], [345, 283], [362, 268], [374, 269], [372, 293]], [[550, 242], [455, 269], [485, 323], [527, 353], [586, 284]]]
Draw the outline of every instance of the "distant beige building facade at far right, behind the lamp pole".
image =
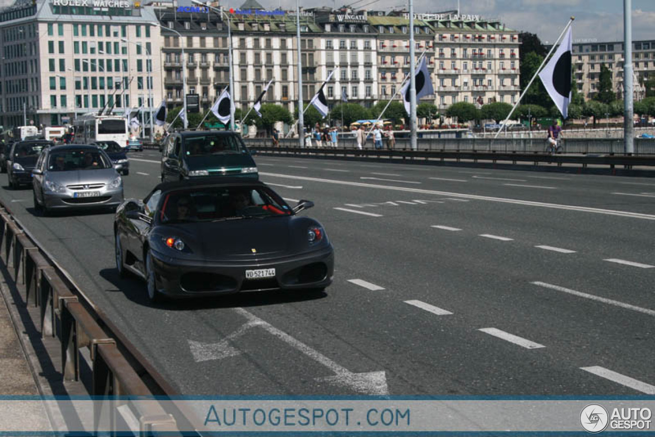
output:
[[[641, 100], [645, 96], [643, 81], [655, 77], [655, 41], [633, 41], [632, 44], [633, 98]], [[612, 73], [612, 89], [616, 93], [616, 98], [623, 98], [623, 41], [576, 43], [572, 49], [576, 85], [585, 100], [591, 100], [598, 94], [601, 65], [605, 65]]]

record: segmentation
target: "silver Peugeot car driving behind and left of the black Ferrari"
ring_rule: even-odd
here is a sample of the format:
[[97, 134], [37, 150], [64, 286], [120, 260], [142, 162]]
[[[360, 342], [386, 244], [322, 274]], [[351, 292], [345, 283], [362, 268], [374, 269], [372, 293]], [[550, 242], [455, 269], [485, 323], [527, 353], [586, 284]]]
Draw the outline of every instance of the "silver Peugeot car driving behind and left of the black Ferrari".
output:
[[59, 145], [45, 149], [32, 170], [34, 209], [108, 208], [123, 200], [121, 176], [107, 153], [95, 145]]

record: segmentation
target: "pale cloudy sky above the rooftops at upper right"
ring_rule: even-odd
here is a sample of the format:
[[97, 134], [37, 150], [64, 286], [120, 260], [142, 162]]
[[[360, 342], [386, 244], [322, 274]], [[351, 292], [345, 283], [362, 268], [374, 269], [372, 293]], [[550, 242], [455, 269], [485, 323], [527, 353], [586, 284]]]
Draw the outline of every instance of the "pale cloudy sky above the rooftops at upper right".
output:
[[[267, 9], [282, 6], [295, 9], [295, 0], [258, 0]], [[221, 1], [229, 7], [240, 7], [244, 0]], [[354, 8], [366, 5], [368, 10], [391, 10], [407, 8], [402, 0], [300, 0], [300, 6], [341, 7], [354, 4]], [[367, 5], [367, 3], [369, 3]], [[655, 40], [655, 0], [631, 0], [632, 39]], [[414, 0], [415, 12], [442, 12], [456, 10], [457, 0]], [[601, 41], [623, 41], [622, 0], [459, 0], [462, 14], [476, 14], [486, 18], [500, 18], [506, 26], [519, 31], [536, 33], [542, 40], [553, 43], [571, 16], [576, 20], [573, 39], [596, 39]]]

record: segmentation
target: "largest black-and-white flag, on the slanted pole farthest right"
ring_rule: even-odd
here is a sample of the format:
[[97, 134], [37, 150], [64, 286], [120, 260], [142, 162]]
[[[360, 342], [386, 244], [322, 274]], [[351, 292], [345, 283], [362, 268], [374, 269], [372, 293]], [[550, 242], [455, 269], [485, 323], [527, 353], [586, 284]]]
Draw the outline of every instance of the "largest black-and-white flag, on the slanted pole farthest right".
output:
[[569, 102], [571, 102], [571, 28], [567, 31], [562, 43], [550, 58], [546, 67], [539, 73], [539, 79], [553, 99], [562, 117], [569, 117]]

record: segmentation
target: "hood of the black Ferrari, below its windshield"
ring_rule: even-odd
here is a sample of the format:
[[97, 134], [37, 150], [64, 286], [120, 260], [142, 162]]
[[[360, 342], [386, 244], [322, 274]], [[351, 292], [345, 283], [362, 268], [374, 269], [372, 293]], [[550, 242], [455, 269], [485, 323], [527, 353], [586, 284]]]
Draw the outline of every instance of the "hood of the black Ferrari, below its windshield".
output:
[[265, 259], [290, 254], [297, 245], [294, 229], [291, 217], [234, 219], [160, 225], [155, 238], [180, 238], [190, 252], [181, 252], [179, 257], [189, 259]]

